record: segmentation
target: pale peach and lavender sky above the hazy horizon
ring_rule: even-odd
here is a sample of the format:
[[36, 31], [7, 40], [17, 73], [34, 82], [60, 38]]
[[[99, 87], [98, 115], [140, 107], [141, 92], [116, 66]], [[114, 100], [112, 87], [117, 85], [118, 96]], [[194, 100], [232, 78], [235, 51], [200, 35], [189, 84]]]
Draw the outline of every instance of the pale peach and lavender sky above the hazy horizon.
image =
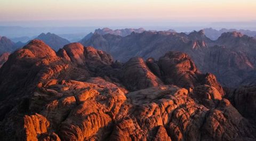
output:
[[[255, 0], [0, 0], [0, 26], [255, 22]], [[73, 22], [74, 21], [74, 22]], [[81, 22], [79, 22], [81, 21]]]

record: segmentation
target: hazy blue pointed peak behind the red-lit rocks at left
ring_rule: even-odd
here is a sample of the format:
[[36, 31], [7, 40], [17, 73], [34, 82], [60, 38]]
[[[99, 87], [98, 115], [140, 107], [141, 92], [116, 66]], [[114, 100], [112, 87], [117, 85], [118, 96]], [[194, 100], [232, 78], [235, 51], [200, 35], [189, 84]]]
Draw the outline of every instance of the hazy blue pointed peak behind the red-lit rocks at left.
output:
[[55, 34], [51, 34], [50, 32], [48, 32], [47, 34], [42, 33], [41, 35], [37, 36], [35, 39], [43, 40], [47, 45], [52, 47], [55, 51], [58, 51], [60, 48], [70, 43], [67, 39], [61, 38]]

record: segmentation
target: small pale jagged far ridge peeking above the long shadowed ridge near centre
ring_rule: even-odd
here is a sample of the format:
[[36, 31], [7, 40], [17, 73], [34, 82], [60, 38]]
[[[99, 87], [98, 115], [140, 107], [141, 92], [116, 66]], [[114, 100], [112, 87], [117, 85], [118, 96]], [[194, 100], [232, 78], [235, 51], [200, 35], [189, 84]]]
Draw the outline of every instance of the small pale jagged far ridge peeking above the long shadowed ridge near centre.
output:
[[95, 34], [105, 35], [105, 34], [113, 34], [113, 35], [119, 35], [119, 36], [127, 36], [130, 35], [132, 32], [135, 33], [141, 33], [146, 31], [143, 28], [133, 29], [133, 28], [125, 28], [125, 29], [116, 29], [112, 30], [109, 28], [103, 28], [103, 29], [96, 29], [94, 31]]

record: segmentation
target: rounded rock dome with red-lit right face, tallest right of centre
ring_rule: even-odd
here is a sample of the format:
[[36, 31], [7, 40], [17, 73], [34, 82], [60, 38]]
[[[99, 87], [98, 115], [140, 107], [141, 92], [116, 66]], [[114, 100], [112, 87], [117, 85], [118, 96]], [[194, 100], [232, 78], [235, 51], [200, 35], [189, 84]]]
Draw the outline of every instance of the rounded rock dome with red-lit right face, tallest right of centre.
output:
[[199, 71], [194, 62], [185, 53], [169, 52], [159, 58], [159, 68], [163, 72], [166, 84], [181, 87], [194, 87], [197, 83]]

